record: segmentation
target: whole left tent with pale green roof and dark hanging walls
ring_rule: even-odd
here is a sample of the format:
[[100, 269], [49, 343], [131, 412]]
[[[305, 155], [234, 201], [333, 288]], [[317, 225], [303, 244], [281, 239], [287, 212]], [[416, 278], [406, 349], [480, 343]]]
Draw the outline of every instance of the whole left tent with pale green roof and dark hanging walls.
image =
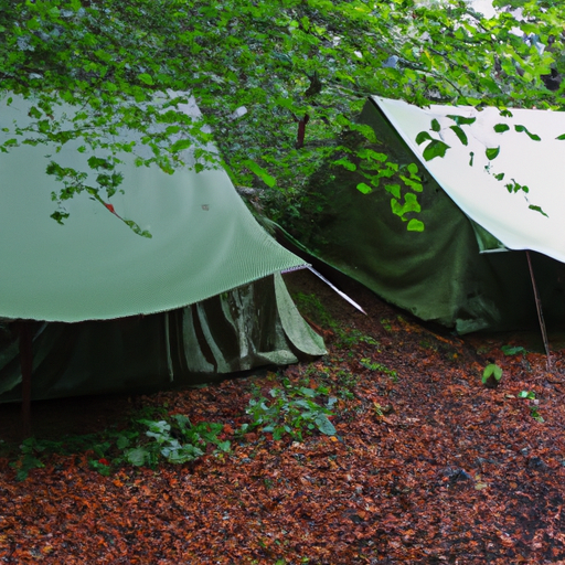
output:
[[[225, 171], [167, 174], [124, 152], [124, 193], [108, 207], [87, 193], [64, 201], [58, 225], [50, 215], [61, 183], [46, 166], [88, 170], [90, 153], [74, 141], [57, 153], [22, 143], [14, 124], [34, 102], [10, 98], [0, 102], [1, 141], [19, 145], [0, 153], [0, 402], [22, 394], [13, 320], [35, 321], [33, 398], [191, 384], [323, 353], [280, 276], [303, 260], [255, 222]], [[76, 109], [56, 113], [45, 119]]]

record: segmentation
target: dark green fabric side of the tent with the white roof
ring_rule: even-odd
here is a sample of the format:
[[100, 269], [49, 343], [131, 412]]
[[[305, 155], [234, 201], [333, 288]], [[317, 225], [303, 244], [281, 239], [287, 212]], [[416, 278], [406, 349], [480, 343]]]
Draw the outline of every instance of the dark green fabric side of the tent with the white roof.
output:
[[[416, 162], [424, 171], [418, 195], [423, 210], [417, 214], [424, 232], [406, 231], [406, 223], [391, 212], [391, 195], [384, 189], [362, 194], [356, 190], [364, 180], [360, 174], [329, 167], [311, 184], [321, 212], [311, 228], [290, 230], [292, 236], [309, 253], [423, 320], [460, 333], [535, 327], [525, 252], [480, 254], [469, 218], [373, 103], [366, 104], [360, 121], [373, 127], [397, 162]], [[564, 266], [531, 255], [546, 320], [563, 323]]]

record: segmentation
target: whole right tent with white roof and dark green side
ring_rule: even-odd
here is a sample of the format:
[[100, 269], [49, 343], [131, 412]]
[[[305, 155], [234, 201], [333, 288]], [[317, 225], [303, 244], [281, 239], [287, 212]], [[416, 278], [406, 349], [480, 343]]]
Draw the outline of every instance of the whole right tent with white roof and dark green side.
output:
[[[286, 226], [302, 247], [387, 301], [459, 333], [535, 327], [530, 259], [545, 320], [563, 327], [565, 190], [557, 163], [565, 114], [418, 108], [372, 97], [359, 121], [375, 131], [373, 150], [399, 166], [417, 164], [423, 191], [401, 182], [396, 207], [416, 194], [422, 210], [405, 220], [418, 218], [424, 231], [407, 231], [392, 213], [384, 188], [397, 175], [362, 193], [359, 169], [334, 166], [311, 183], [319, 209], [313, 230]], [[445, 156], [426, 160], [434, 142], [448, 146]]]

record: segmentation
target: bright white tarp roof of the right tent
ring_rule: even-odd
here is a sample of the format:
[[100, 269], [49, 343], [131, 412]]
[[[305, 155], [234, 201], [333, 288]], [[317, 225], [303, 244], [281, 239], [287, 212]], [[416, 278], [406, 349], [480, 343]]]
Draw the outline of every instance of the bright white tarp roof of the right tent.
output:
[[[376, 96], [373, 99], [429, 173], [470, 218], [509, 249], [532, 249], [565, 263], [565, 175], [562, 169], [565, 140], [557, 139], [565, 134], [565, 113], [511, 109], [511, 116], [501, 116], [497, 108], [418, 108], [401, 100]], [[448, 116], [476, 118], [473, 124], [460, 126], [467, 136], [467, 146], [451, 129], [456, 121]], [[440, 126], [437, 132], [431, 129], [434, 119]], [[509, 129], [497, 132], [494, 126], [498, 125]], [[429, 141], [416, 142], [420, 131], [449, 146], [445, 157], [424, 159]], [[532, 137], [540, 137], [540, 140]], [[495, 149], [499, 149], [498, 157], [489, 159], [487, 150], [493, 153]], [[500, 178], [502, 173], [503, 178], [497, 179], [495, 175]], [[515, 186], [515, 183], [527, 186], [527, 193], [509, 192], [507, 185]]]

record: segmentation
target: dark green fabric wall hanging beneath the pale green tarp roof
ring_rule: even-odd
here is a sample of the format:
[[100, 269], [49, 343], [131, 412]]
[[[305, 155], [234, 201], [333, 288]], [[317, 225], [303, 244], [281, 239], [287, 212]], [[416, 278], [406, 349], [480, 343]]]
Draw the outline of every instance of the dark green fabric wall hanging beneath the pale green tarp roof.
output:
[[[289, 324], [288, 319], [292, 317]], [[21, 398], [18, 334], [0, 343], [0, 402]], [[34, 323], [33, 399], [157, 391], [326, 352], [280, 275], [151, 316]]]

